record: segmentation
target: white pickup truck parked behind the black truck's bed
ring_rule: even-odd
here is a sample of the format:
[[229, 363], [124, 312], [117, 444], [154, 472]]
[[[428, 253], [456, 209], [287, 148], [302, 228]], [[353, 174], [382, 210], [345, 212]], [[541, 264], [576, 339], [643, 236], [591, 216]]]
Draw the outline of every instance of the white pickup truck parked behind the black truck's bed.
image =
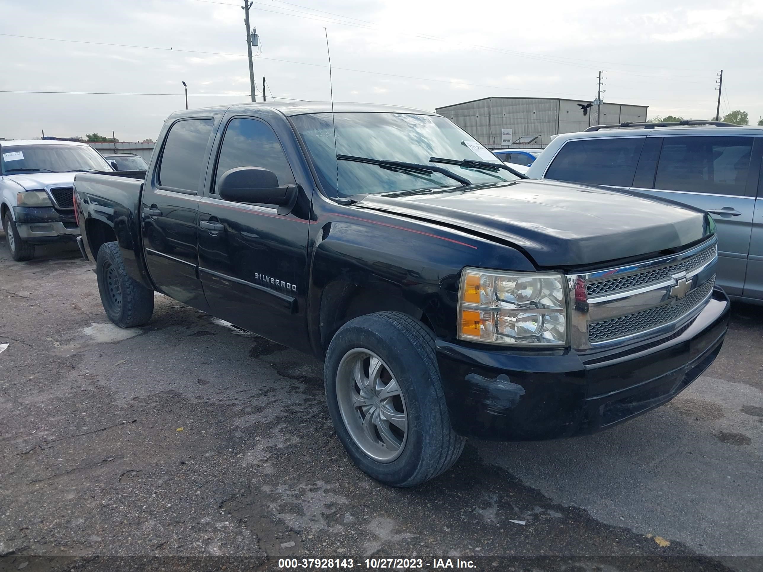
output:
[[74, 175], [113, 170], [85, 143], [0, 141], [0, 220], [13, 259], [31, 259], [36, 244], [75, 241]]

